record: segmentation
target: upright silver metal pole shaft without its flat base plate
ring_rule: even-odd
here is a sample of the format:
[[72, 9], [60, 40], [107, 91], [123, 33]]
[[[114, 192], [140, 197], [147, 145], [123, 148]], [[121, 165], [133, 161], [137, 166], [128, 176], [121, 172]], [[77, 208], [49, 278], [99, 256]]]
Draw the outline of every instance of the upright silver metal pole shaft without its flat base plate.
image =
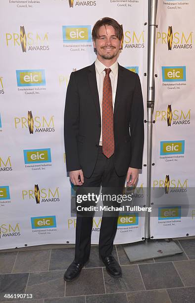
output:
[[[152, 153], [152, 115], [154, 108], [154, 58], [156, 13], [158, 0], [148, 0], [148, 57], [147, 57], [147, 191], [146, 206], [150, 207], [151, 198], [151, 153]], [[145, 241], [150, 240], [150, 212], [145, 216]]]

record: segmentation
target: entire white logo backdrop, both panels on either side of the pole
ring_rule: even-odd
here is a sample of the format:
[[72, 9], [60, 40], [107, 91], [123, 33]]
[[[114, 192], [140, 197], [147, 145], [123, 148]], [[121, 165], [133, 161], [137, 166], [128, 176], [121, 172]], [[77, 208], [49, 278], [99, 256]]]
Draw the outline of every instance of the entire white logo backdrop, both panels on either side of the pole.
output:
[[[192, 236], [195, 3], [158, 2], [151, 236]], [[75, 188], [63, 140], [65, 95], [70, 73], [95, 61], [91, 31], [105, 16], [123, 25], [118, 62], [139, 74], [147, 120], [146, 0], [0, 1], [1, 249], [75, 242]], [[146, 127], [132, 206], [146, 204]], [[144, 215], [136, 209], [120, 214], [115, 244], [141, 241]], [[100, 224], [101, 217], [94, 217], [93, 244]]]

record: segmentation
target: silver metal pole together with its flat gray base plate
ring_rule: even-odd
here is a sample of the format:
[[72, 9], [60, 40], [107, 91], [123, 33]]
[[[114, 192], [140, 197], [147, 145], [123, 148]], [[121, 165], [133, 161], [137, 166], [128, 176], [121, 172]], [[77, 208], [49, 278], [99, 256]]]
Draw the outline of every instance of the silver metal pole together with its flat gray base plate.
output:
[[[151, 200], [151, 152], [152, 152], [152, 125], [154, 108], [154, 55], [156, 13], [158, 0], [148, 0], [148, 56], [147, 56], [147, 191], [146, 206], [150, 207]], [[150, 212], [145, 216], [145, 240], [136, 244], [124, 246], [125, 253], [131, 262], [146, 260], [155, 257], [183, 253], [174, 241], [150, 239]], [[167, 241], [168, 240], [168, 241]]]

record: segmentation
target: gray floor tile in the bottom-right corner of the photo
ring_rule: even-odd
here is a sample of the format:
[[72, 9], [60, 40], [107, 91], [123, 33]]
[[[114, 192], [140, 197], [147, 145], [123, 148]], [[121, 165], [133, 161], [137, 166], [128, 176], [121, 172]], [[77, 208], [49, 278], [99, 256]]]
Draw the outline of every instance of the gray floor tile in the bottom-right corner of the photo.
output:
[[195, 303], [195, 287], [167, 289], [171, 303]]

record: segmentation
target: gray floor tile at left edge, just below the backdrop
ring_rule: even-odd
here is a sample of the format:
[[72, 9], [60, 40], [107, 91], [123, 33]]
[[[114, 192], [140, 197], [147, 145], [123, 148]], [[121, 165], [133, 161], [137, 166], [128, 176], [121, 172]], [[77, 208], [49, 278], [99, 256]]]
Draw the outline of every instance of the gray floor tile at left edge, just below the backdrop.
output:
[[0, 253], [0, 274], [11, 273], [17, 252]]

